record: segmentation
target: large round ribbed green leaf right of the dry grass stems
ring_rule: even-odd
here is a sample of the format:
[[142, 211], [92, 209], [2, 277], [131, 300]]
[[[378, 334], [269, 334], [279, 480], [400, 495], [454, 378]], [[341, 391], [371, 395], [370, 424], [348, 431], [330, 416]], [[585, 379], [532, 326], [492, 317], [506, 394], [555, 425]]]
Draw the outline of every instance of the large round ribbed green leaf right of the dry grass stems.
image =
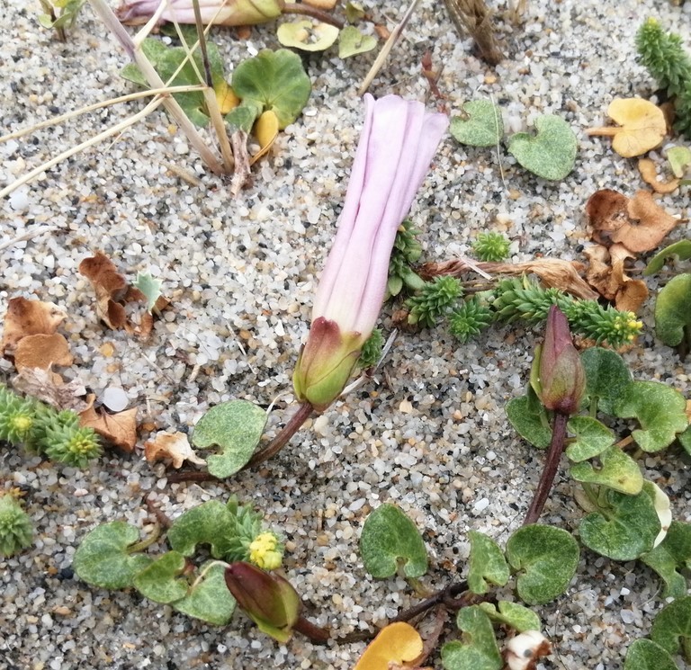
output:
[[233, 72], [232, 85], [243, 103], [253, 100], [263, 112], [273, 110], [281, 130], [298, 118], [312, 90], [300, 56], [288, 49], [263, 49], [243, 61]]

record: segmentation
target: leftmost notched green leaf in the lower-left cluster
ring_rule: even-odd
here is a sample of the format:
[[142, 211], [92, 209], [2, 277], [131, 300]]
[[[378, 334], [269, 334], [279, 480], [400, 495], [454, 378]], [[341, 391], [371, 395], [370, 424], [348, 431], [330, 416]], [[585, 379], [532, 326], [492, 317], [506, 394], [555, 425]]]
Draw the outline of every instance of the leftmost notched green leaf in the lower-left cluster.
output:
[[143, 554], [130, 554], [139, 530], [122, 521], [102, 523], [85, 535], [76, 549], [73, 567], [80, 579], [102, 588], [127, 588], [151, 562]]

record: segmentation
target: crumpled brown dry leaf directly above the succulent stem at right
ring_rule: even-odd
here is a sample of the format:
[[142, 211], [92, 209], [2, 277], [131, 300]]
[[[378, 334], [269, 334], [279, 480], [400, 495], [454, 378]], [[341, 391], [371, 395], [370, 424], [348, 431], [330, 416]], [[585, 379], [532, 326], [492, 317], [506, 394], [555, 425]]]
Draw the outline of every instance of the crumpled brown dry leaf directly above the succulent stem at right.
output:
[[635, 258], [624, 245], [593, 246], [585, 250], [590, 260], [586, 278], [603, 298], [613, 300], [617, 309], [637, 312], [648, 297], [648, 287], [624, 272], [627, 258]]

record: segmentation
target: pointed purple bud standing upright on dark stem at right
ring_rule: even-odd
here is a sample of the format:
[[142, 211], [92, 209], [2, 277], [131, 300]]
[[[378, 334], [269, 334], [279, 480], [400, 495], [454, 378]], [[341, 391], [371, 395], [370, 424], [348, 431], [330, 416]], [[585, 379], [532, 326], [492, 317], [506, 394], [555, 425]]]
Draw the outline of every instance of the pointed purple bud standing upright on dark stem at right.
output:
[[543, 406], [565, 415], [576, 414], [586, 389], [586, 372], [573, 345], [569, 322], [555, 305], [547, 315], [544, 344], [535, 355]]

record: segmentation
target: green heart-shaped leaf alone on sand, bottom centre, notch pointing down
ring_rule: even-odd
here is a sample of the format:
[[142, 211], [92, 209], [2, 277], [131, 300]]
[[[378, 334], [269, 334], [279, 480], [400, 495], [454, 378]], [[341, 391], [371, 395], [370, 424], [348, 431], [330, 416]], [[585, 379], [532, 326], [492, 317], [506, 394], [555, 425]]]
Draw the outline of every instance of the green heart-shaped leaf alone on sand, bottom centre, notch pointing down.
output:
[[396, 505], [380, 505], [367, 517], [360, 554], [367, 572], [379, 579], [395, 575], [399, 561], [405, 576], [418, 577], [427, 571], [425, 543], [415, 523]]

